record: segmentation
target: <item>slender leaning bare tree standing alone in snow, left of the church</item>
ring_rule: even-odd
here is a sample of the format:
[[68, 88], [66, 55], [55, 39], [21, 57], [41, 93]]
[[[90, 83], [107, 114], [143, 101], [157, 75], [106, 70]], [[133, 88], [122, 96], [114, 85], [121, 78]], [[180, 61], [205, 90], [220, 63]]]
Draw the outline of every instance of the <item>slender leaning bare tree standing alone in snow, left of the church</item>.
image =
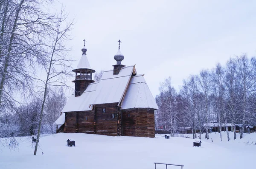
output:
[[[65, 25], [64, 25], [65, 24]], [[38, 126], [38, 134], [37, 134], [37, 141], [35, 144], [35, 151], [34, 155], [37, 153], [38, 148], [38, 141], [40, 138], [40, 131], [41, 131], [41, 124], [43, 119], [44, 113], [44, 105], [46, 101], [46, 97], [48, 94], [48, 87], [49, 86], [66, 86], [65, 79], [67, 76], [70, 76], [70, 65], [67, 65], [70, 59], [67, 59], [67, 51], [68, 48], [64, 46], [65, 41], [70, 40], [70, 31], [72, 29], [73, 22], [67, 23], [67, 16], [64, 15], [63, 9], [61, 9], [60, 17], [56, 21], [55, 25], [52, 25], [54, 29], [52, 29], [52, 44], [49, 44], [49, 39], [46, 39], [47, 42], [45, 46], [49, 49], [49, 53], [46, 53], [46, 60], [44, 64], [44, 70], [46, 71], [47, 77], [45, 80], [40, 80], [44, 83], [44, 97], [41, 106], [41, 113], [40, 113], [40, 121]]]

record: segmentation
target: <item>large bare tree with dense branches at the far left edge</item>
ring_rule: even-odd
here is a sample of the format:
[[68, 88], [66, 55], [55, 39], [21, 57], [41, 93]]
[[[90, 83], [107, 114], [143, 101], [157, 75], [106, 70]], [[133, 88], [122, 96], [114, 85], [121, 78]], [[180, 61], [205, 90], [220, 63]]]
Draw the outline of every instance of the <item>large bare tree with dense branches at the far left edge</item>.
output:
[[[32, 72], [42, 57], [40, 39], [52, 22], [41, 4], [40, 0], [0, 1], [0, 117], [15, 117], [16, 105], [34, 89]], [[7, 130], [12, 124], [0, 120], [0, 125]], [[6, 132], [15, 143], [13, 132]]]

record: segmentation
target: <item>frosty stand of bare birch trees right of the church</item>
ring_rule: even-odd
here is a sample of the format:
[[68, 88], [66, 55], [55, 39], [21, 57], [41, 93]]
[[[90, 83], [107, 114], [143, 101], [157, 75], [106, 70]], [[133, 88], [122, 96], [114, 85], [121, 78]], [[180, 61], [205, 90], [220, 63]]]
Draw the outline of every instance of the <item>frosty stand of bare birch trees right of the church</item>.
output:
[[[172, 136], [191, 127], [194, 138], [199, 130], [200, 138], [205, 131], [209, 139], [209, 124], [215, 122], [218, 127], [240, 124], [242, 138], [245, 125], [256, 125], [256, 57], [243, 54], [224, 66], [201, 70], [184, 80], [178, 93], [171, 78], [165, 79], [159, 90], [156, 129], [169, 131]], [[227, 137], [229, 140], [228, 132]]]

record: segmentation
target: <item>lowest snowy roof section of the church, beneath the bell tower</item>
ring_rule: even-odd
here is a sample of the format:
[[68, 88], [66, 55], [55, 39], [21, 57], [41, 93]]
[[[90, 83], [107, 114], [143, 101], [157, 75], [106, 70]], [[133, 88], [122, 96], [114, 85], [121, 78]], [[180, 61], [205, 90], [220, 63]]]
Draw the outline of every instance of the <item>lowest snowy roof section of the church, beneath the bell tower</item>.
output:
[[99, 82], [90, 83], [84, 93], [79, 96], [75, 97], [75, 94], [70, 96], [66, 105], [62, 109], [61, 112], [75, 112], [75, 111], [87, 111], [92, 110], [93, 106], [90, 106], [91, 98], [96, 91], [96, 87]]

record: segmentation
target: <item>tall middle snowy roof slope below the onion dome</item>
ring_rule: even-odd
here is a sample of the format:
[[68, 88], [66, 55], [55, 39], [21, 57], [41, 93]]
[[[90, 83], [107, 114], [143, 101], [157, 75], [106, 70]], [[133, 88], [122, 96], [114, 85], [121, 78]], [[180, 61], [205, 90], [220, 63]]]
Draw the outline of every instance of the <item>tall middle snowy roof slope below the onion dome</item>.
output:
[[134, 66], [122, 68], [118, 75], [113, 75], [113, 70], [105, 71], [90, 104], [120, 103]]

